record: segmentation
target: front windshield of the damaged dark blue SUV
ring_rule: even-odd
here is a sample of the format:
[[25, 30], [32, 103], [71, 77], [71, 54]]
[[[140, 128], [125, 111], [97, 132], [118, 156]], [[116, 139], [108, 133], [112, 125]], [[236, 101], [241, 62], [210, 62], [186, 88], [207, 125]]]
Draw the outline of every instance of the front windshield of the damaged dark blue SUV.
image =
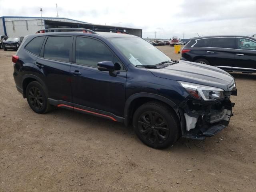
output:
[[160, 62], [171, 60], [163, 52], [142, 38], [124, 37], [110, 38], [109, 40], [135, 66], [156, 65]]

